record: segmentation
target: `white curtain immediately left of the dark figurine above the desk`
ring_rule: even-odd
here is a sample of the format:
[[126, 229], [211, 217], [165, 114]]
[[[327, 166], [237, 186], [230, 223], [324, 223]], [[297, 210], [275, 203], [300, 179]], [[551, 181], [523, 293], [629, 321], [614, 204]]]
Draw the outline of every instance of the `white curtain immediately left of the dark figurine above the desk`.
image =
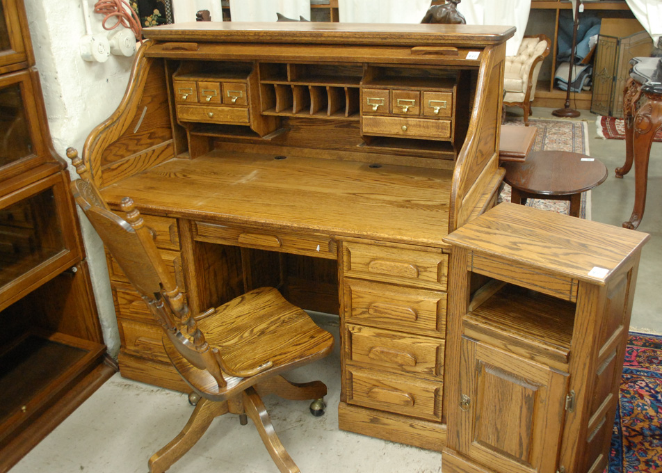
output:
[[420, 23], [430, 0], [338, 0], [342, 23]]

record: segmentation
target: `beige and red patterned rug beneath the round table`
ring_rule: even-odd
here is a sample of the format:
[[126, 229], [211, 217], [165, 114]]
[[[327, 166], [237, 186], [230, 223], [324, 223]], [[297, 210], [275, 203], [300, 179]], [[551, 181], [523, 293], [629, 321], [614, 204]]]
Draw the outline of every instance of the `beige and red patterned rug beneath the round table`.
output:
[[[506, 119], [508, 125], [521, 125], [521, 118]], [[588, 123], [572, 120], [528, 120], [530, 127], [536, 127], [535, 143], [532, 151], [570, 151], [574, 153], [589, 154], [588, 152]], [[510, 202], [510, 186], [503, 185], [501, 200]], [[551, 210], [558, 214], [567, 214], [570, 202], [565, 200], [528, 199], [528, 207]], [[590, 191], [581, 195], [581, 218], [590, 220]]]

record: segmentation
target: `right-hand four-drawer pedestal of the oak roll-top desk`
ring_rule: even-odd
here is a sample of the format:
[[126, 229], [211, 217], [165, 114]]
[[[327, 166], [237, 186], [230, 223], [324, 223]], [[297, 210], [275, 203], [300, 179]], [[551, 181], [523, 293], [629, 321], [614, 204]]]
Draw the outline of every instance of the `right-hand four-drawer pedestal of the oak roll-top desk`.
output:
[[441, 451], [447, 255], [358, 240], [340, 255], [340, 428]]

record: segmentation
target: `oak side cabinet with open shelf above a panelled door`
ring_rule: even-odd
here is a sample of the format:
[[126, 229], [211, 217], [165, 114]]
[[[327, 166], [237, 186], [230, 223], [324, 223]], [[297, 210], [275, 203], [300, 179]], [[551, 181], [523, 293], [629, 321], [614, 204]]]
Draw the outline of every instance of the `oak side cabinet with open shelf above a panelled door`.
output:
[[444, 238], [444, 473], [602, 473], [648, 238], [509, 203]]

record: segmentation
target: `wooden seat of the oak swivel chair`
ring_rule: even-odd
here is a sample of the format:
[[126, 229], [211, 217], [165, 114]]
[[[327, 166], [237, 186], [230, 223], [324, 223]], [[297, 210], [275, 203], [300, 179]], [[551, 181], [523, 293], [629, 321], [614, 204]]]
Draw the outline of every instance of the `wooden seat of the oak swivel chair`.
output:
[[333, 347], [333, 336], [319, 328], [299, 307], [287, 302], [273, 287], [261, 287], [236, 297], [216, 308], [209, 316], [197, 319], [207, 343], [218, 348], [231, 376], [227, 387], [219, 388], [208, 371], [196, 369], [182, 357], [164, 335], [166, 353], [179, 374], [199, 394], [210, 399], [232, 396], [264, 378], [232, 377], [271, 362], [264, 375], [274, 376], [325, 357]]

